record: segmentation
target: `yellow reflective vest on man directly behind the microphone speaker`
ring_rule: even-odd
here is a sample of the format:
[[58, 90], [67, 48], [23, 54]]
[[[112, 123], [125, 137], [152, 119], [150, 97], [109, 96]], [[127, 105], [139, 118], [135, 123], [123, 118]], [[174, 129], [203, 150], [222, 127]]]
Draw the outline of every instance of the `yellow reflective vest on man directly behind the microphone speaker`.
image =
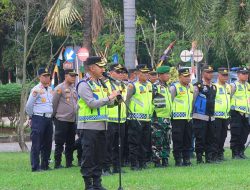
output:
[[[122, 87], [122, 86], [118, 86], [114, 83], [111, 84], [109, 80], [106, 82], [106, 85], [107, 85], [108, 90], [110, 92], [112, 92], [113, 90], [122, 91], [122, 97], [123, 97], [123, 100], [125, 101], [125, 98], [127, 95], [126, 86]], [[126, 118], [127, 118], [126, 106], [125, 106], [124, 102], [122, 102], [121, 103], [121, 121], [120, 122], [125, 123]], [[108, 122], [118, 123], [118, 106], [108, 107]]]

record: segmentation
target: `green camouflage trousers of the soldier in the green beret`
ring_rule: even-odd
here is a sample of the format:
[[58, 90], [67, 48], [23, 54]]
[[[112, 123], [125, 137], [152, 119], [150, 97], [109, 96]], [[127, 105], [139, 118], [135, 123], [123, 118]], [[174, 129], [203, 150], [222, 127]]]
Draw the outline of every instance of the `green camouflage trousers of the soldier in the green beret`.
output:
[[158, 162], [170, 155], [171, 125], [170, 119], [157, 118], [152, 122], [152, 159]]

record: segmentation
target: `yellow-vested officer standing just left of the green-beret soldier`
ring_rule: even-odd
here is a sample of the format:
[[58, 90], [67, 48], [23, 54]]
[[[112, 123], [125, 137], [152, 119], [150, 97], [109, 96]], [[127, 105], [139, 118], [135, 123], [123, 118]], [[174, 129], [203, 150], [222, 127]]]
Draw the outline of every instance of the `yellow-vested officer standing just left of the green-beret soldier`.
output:
[[128, 85], [126, 103], [132, 111], [132, 113], [128, 113], [129, 158], [132, 170], [146, 168], [146, 162], [151, 154], [150, 121], [153, 110], [152, 84], [147, 81], [148, 72], [149, 69], [146, 65], [139, 65], [138, 80]]

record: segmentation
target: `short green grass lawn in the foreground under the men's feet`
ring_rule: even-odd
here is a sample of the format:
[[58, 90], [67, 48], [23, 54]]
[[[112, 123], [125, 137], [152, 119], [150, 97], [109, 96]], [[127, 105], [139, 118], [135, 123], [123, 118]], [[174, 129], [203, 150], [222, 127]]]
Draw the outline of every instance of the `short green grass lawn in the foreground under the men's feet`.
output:
[[[250, 155], [250, 150], [246, 155]], [[250, 159], [231, 160], [221, 164], [174, 167], [173, 158], [168, 168], [130, 171], [122, 176], [125, 190], [250, 190]], [[109, 190], [118, 188], [118, 175], [103, 177]], [[28, 153], [0, 153], [0, 190], [82, 190], [84, 189], [79, 167], [32, 173]]]

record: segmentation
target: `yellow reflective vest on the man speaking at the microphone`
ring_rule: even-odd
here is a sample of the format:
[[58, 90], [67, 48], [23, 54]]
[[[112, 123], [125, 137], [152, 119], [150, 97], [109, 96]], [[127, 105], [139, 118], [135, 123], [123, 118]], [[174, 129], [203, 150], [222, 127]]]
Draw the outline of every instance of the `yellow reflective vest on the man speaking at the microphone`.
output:
[[[108, 89], [99, 86], [93, 81], [85, 81], [90, 86], [93, 96], [96, 100], [106, 98], [108, 96]], [[91, 109], [86, 102], [80, 98], [78, 100], [79, 111], [78, 111], [78, 121], [79, 122], [94, 122], [94, 121], [107, 121], [107, 106], [102, 106], [100, 108]]]

